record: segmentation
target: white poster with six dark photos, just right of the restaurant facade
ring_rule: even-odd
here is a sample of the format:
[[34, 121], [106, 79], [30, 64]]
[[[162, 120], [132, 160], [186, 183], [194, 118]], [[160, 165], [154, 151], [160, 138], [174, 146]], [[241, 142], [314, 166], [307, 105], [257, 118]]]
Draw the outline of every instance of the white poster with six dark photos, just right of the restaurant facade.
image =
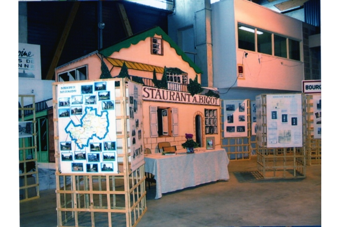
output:
[[224, 137], [248, 136], [247, 100], [223, 100]]

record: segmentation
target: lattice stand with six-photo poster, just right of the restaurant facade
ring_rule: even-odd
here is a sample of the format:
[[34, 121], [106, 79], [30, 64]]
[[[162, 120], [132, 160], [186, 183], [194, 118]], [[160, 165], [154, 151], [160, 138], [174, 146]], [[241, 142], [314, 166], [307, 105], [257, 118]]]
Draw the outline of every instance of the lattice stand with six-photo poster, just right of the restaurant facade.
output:
[[[230, 104], [236, 103], [236, 104]], [[241, 113], [238, 105], [241, 105]], [[244, 103], [244, 105], [243, 105]], [[229, 108], [229, 109], [228, 109]], [[235, 108], [235, 109], [234, 109]], [[231, 110], [231, 111], [229, 111]], [[234, 110], [234, 111], [233, 111]], [[230, 112], [230, 114], [228, 114]], [[236, 113], [236, 114], [235, 114]], [[222, 100], [221, 101], [221, 147], [227, 152], [229, 160], [250, 160], [251, 156], [251, 120], [250, 100]], [[239, 121], [241, 120], [241, 121]], [[227, 126], [228, 123], [231, 126]], [[237, 123], [238, 122], [238, 123]], [[244, 124], [240, 124], [244, 122]], [[238, 128], [241, 130], [238, 130]], [[231, 130], [228, 130], [228, 129]], [[245, 129], [245, 130], [244, 130]], [[241, 131], [241, 132], [238, 132]], [[228, 135], [230, 134], [230, 135]]]

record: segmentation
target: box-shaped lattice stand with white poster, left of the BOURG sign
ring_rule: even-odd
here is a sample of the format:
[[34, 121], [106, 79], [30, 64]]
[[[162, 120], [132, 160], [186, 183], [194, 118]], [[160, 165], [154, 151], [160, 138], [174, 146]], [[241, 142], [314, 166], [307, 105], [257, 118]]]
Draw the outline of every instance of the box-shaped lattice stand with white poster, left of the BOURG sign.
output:
[[[272, 103], [267, 103], [268, 96], [269, 95], [262, 94], [256, 97], [257, 172], [264, 179], [305, 178], [306, 120], [302, 117], [306, 110], [305, 102], [303, 101], [304, 96], [301, 96], [301, 94], [283, 94], [280, 96], [280, 94], [278, 94], [276, 98], [278, 98], [277, 100], [279, 101], [277, 107], [274, 107], [277, 108], [274, 109], [274, 111], [268, 108], [268, 105], [272, 105]], [[285, 100], [285, 97], [288, 97], [288, 99]], [[299, 101], [302, 103], [301, 107], [299, 106]], [[290, 108], [292, 108], [292, 110], [290, 110]], [[273, 122], [273, 118], [277, 119], [277, 124], [275, 121], [275, 124], [271, 123]], [[280, 124], [286, 125], [281, 126]], [[290, 127], [295, 128], [290, 129]], [[273, 132], [275, 132], [276, 135], [274, 135]], [[277, 143], [273, 144], [275, 139]], [[292, 146], [292, 144], [300, 145]]]

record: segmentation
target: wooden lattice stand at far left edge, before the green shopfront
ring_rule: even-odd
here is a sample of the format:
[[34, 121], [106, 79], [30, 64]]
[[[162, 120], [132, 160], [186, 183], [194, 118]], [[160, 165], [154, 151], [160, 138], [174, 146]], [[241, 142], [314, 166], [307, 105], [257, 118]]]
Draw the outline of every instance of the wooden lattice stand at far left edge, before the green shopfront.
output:
[[[19, 194], [20, 202], [39, 198], [39, 178], [38, 178], [38, 163], [37, 163], [37, 138], [35, 128], [35, 96], [34, 95], [19, 95], [21, 107], [19, 107]], [[29, 99], [29, 100], [27, 100]], [[32, 103], [25, 106], [25, 103]], [[26, 121], [27, 116], [33, 120]], [[20, 123], [21, 122], [21, 123]], [[32, 127], [29, 122], [32, 122]], [[21, 127], [21, 124], [27, 125], [26, 128]], [[30, 128], [30, 130], [27, 129]], [[28, 131], [30, 135], [24, 135]], [[23, 136], [23, 137], [22, 137]]]

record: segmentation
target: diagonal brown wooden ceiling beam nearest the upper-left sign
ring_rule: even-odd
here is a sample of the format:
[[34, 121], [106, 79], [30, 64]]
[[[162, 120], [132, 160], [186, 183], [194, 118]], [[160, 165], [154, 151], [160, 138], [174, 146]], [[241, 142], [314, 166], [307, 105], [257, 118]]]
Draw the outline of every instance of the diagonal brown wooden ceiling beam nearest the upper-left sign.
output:
[[52, 80], [52, 78], [54, 76], [54, 70], [57, 67], [57, 64], [59, 62], [60, 56], [61, 56], [61, 54], [63, 52], [63, 49], [64, 49], [64, 46], [65, 46], [68, 34], [69, 34], [70, 30], [71, 30], [71, 27], [72, 27], [75, 15], [77, 14], [77, 11], [79, 9], [79, 5], [80, 5], [80, 2], [78, 2], [78, 1], [75, 1], [73, 3], [70, 15], [67, 18], [67, 21], [66, 21], [63, 33], [62, 33], [62, 35], [60, 37], [60, 40], [59, 40], [59, 43], [58, 43], [58, 46], [55, 49], [55, 52], [54, 52], [54, 55], [53, 55], [53, 59], [52, 59], [52, 62], [50, 64], [50, 68], [48, 69], [48, 72], [47, 72], [47, 75], [46, 75], [46, 80]]

